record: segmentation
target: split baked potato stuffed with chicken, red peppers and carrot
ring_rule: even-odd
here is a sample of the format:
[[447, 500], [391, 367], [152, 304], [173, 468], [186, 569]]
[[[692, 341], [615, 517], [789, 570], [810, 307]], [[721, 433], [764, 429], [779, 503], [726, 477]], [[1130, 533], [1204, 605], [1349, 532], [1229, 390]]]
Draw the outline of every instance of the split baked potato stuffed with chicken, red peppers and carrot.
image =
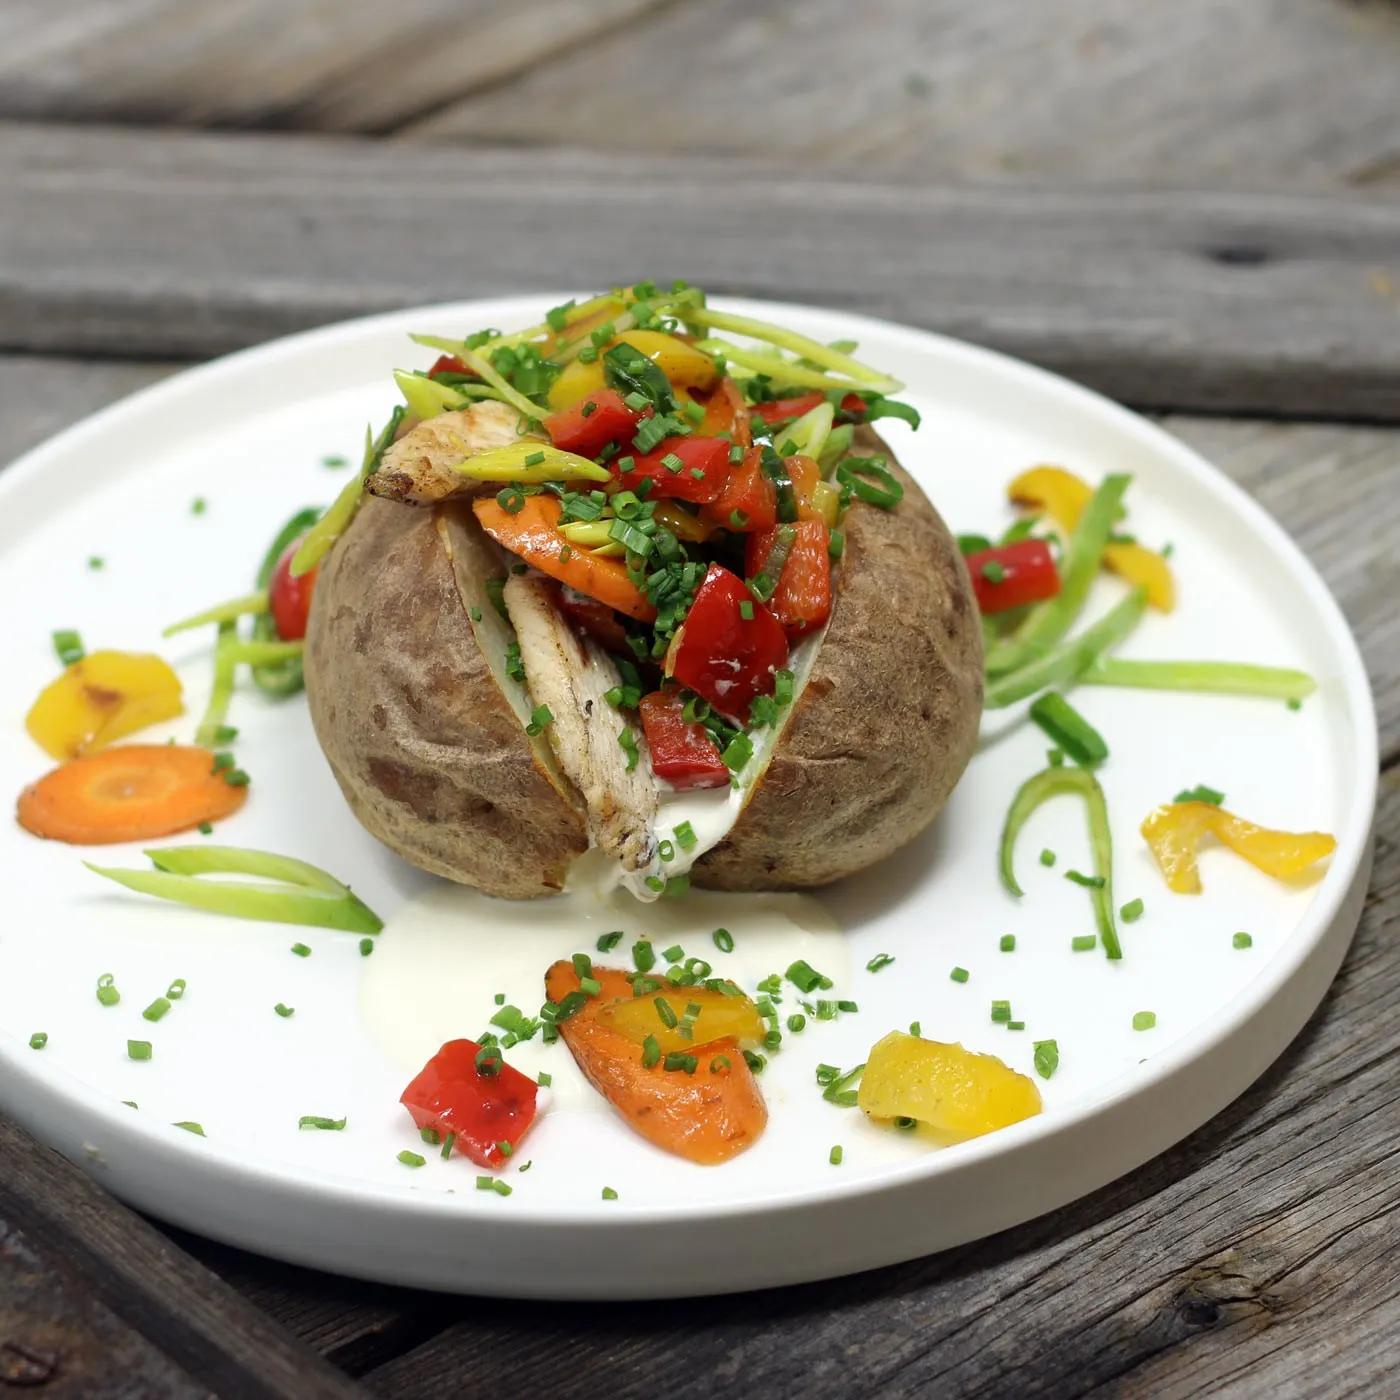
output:
[[[666, 363], [659, 354], [651, 360]], [[767, 419], [745, 421], [748, 406], [732, 381], [679, 385], [672, 378], [668, 388], [703, 407], [707, 423], [661, 448], [682, 444], [683, 462], [700, 462], [697, 444], [708, 440], [708, 414], [722, 400], [731, 413], [721, 442], [727, 479], [738, 477], [741, 452], [745, 463], [759, 454], [777, 459], [770, 441], [750, 444], [750, 428], [766, 427]], [[605, 393], [595, 389], [585, 402], [596, 400], [599, 412], [615, 407]], [[636, 536], [622, 557], [606, 546], [574, 546], [568, 539], [581, 535], [560, 533], [557, 504], [570, 500], [570, 486], [532, 490], [532, 468], [561, 470], [567, 452], [545, 465], [536, 448], [552, 440], [560, 447], [567, 434], [559, 420], [571, 406], [552, 399], [556, 413], [543, 428], [518, 417], [519, 451], [508, 459], [514, 477], [498, 461], [511, 451], [498, 441], [500, 403], [466, 403], [417, 426], [409, 419], [399, 440], [367, 463], [368, 497], [319, 566], [307, 634], [316, 736], [360, 822], [412, 864], [507, 897], [563, 889], [589, 847], [643, 899], [687, 867], [694, 885], [713, 889], [819, 886], [864, 869], [923, 830], [976, 742], [981, 627], [946, 526], [889, 447], [860, 421], [855, 405], [869, 407], [875, 398], [846, 395], [857, 420], [846, 433], [846, 459], [878, 461], [881, 489], [853, 491], [862, 483], [844, 473], [841, 552], [827, 549], [832, 529], [812, 505], [812, 490], [822, 494], [815, 459], [808, 496], [801, 483], [797, 490], [798, 521], [811, 524], [778, 524], [767, 535], [739, 533], [743, 511], [725, 515], [725, 500], [703, 500], [711, 487], [700, 466], [686, 468], [690, 480], [669, 462], [657, 472], [652, 494], [664, 504], [652, 518], [680, 539], [682, 559], [701, 556], [693, 573], [678, 574], [690, 580], [690, 594], [682, 599], [687, 608], [671, 610], [669, 634], [665, 601], [634, 589], [644, 574], [631, 550]], [[477, 424], [486, 403], [490, 420]], [[801, 407], [797, 399], [777, 406], [784, 403], [794, 413]], [[657, 403], [655, 412], [665, 407]], [[830, 428], [830, 410], [816, 417]], [[797, 419], [778, 424], [802, 431], [805, 417]], [[580, 426], [577, 413], [573, 423]], [[477, 427], [487, 430], [490, 447], [463, 452]], [[596, 456], [606, 465], [606, 452]], [[601, 473], [610, 476], [608, 490], [589, 498], [620, 518], [636, 500], [627, 487], [636, 489], [644, 461], [622, 456], [622, 468], [636, 463], [633, 475], [615, 465]], [[787, 461], [797, 473], [799, 455]], [[773, 470], [776, 518], [788, 519], [783, 489], [792, 483], [781, 465]], [[594, 480], [573, 486], [587, 490]], [[668, 494], [672, 487], [679, 497]], [[826, 602], [806, 615], [788, 596], [795, 553], [774, 550], [753, 564], [760, 540], [801, 543], [805, 536], [794, 531], [820, 540], [827, 571]], [[540, 552], [545, 536], [552, 539]], [[748, 552], [748, 591], [738, 571], [718, 561], [700, 578], [704, 553], [731, 560], [736, 550]], [[840, 553], [834, 566], [826, 563], [829, 553]], [[801, 567], [811, 570], [816, 554], [804, 557]], [[727, 626], [742, 634], [727, 644], [739, 659], [707, 655], [707, 671], [689, 652], [699, 645], [701, 613], [720, 608], [711, 594], [724, 587], [742, 592], [724, 603]], [[743, 650], [760, 624], [760, 641], [781, 647], [781, 662], [762, 647], [756, 661]], [[731, 679], [715, 682], [715, 665]], [[669, 728], [659, 727], [662, 720]], [[687, 745], [708, 745], [713, 753], [692, 771], [672, 762], [672, 743], [685, 753]], [[699, 813], [693, 822], [692, 812]]]

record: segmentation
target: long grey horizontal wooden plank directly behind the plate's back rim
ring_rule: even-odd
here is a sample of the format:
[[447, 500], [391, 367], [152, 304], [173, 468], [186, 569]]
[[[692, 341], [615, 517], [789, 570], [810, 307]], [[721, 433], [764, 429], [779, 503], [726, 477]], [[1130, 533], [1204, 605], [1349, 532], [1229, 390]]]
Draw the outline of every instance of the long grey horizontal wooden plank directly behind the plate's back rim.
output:
[[896, 316], [1149, 407], [1400, 419], [1400, 203], [1375, 197], [22, 126], [0, 182], [11, 350], [207, 354], [645, 269]]

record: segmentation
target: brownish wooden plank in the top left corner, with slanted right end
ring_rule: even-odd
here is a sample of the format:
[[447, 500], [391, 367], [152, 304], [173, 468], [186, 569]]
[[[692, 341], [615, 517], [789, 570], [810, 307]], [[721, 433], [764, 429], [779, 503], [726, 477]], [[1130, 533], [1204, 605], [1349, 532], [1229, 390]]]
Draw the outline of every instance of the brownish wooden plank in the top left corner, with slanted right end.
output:
[[0, 116], [382, 132], [665, 0], [7, 0]]

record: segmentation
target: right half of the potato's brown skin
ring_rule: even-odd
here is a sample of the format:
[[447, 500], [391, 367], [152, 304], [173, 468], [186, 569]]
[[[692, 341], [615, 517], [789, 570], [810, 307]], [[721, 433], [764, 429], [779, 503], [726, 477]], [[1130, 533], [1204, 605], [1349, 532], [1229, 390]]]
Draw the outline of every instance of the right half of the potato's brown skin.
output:
[[827, 885], [883, 860], [942, 808], [977, 743], [981, 619], [928, 497], [851, 503], [832, 622], [767, 771], [729, 836], [696, 862], [708, 889]]

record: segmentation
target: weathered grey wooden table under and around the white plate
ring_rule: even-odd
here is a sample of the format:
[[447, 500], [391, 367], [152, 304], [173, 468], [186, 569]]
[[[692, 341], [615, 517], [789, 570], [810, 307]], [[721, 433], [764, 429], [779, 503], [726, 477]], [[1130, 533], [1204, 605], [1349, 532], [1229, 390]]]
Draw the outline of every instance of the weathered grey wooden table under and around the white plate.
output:
[[0, 1120], [0, 1392], [1393, 1390], [1397, 71], [1382, 0], [0, 7], [0, 459], [413, 301], [641, 267], [893, 315], [1158, 412], [1245, 484], [1357, 630], [1383, 767], [1308, 1029], [1053, 1217], [763, 1295], [454, 1299], [161, 1229]]

